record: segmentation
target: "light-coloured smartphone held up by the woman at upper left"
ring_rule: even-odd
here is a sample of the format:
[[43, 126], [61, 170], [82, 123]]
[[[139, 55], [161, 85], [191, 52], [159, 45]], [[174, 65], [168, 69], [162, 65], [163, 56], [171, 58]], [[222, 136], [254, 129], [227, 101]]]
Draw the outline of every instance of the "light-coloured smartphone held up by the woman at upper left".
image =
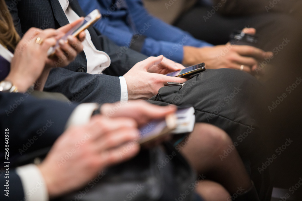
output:
[[[67, 37], [72, 35], [74, 37], [79, 36], [79, 34], [91, 27], [95, 22], [97, 22], [99, 19], [101, 19], [101, 13], [98, 11], [98, 9], [95, 9], [91, 13], [89, 13], [82, 22], [79, 22], [76, 26], [74, 26], [69, 32], [67, 32], [64, 36], [62, 36], [59, 40], [63, 39], [67, 42]], [[59, 48], [59, 40], [57, 41], [56, 45], [51, 47], [47, 55], [48, 57], [51, 57], [55, 54], [55, 51], [57, 48]]]

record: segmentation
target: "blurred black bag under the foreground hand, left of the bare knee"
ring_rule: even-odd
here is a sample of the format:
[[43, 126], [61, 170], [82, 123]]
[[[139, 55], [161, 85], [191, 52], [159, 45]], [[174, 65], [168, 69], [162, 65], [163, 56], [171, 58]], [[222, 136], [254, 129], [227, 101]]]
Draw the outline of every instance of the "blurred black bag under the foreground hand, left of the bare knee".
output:
[[[190, 184], [196, 175], [186, 160], [168, 143], [142, 150], [130, 161], [116, 165], [58, 201], [192, 201]], [[184, 194], [188, 190], [189, 195]]]

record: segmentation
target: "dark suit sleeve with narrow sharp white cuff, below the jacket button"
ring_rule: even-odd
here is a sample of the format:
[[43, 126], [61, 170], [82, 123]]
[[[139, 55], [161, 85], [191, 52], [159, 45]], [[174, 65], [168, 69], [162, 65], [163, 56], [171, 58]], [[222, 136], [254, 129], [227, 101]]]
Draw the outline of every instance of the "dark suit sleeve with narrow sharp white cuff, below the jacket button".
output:
[[118, 77], [78, 73], [64, 68], [55, 68], [50, 71], [44, 90], [63, 93], [73, 103], [120, 101]]

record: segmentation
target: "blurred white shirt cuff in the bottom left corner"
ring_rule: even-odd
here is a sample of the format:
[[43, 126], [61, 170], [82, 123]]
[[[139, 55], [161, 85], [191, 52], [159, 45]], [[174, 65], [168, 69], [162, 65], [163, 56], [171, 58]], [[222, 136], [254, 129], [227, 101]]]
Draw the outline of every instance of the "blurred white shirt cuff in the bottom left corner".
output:
[[16, 169], [23, 186], [27, 201], [48, 201], [48, 191], [39, 168], [34, 164], [24, 165]]

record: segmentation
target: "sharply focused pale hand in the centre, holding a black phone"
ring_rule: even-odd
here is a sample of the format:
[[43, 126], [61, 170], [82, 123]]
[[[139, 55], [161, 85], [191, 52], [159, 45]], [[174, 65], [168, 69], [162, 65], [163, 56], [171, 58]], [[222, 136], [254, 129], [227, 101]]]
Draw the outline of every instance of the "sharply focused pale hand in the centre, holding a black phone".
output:
[[164, 62], [163, 59], [162, 55], [149, 57], [135, 64], [124, 75], [130, 100], [149, 99], [156, 95], [161, 87], [167, 85], [167, 82], [186, 81], [184, 78], [163, 75], [184, 68], [168, 59]]

